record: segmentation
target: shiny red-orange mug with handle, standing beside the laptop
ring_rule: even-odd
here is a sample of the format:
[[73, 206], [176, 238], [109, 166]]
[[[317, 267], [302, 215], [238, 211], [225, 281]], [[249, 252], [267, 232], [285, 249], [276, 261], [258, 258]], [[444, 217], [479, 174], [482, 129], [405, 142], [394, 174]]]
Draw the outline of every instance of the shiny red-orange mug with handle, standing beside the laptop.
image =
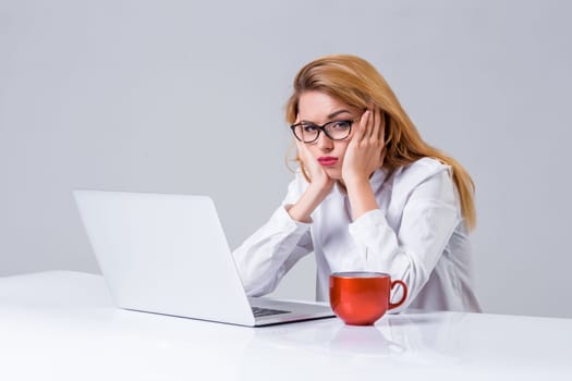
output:
[[[398, 303], [390, 303], [393, 287], [400, 284], [403, 295]], [[388, 310], [401, 306], [407, 297], [403, 281], [391, 282], [381, 272], [349, 271], [330, 274], [330, 306], [349, 325], [373, 325]]]

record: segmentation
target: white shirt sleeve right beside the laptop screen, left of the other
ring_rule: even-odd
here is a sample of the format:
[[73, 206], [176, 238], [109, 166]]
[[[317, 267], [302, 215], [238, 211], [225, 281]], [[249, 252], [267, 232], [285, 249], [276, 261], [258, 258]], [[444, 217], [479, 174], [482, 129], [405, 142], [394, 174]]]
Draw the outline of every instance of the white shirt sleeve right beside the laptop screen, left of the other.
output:
[[293, 220], [289, 204], [296, 199], [299, 185], [294, 180], [282, 205], [268, 222], [234, 251], [234, 261], [248, 296], [272, 292], [282, 276], [305, 255], [313, 251], [311, 224]]

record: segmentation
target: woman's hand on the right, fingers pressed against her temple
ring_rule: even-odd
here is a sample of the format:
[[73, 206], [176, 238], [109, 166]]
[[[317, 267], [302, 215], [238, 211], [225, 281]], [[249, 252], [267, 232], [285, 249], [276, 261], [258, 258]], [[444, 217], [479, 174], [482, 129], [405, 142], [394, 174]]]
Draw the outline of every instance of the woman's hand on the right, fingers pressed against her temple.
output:
[[386, 124], [381, 110], [367, 110], [356, 124], [342, 164], [345, 186], [368, 182], [372, 173], [384, 164]]

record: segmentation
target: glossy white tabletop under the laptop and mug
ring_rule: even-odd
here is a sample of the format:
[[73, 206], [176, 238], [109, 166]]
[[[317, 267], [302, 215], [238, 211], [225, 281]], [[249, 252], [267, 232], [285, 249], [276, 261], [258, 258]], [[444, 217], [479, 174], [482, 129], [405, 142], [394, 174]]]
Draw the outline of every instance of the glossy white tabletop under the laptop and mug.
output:
[[0, 380], [192, 379], [572, 380], [572, 319], [433, 312], [244, 328], [117, 309], [98, 275], [0, 278]]

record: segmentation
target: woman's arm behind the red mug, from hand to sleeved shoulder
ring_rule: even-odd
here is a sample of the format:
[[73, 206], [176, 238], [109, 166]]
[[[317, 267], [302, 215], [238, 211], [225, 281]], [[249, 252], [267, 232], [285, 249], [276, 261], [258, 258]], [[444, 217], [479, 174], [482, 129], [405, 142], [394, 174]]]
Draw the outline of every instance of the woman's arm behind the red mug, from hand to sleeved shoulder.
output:
[[414, 163], [419, 172], [406, 175], [402, 184], [409, 185], [392, 188], [392, 198], [404, 198], [401, 223], [394, 231], [379, 210], [369, 183], [370, 174], [384, 163], [384, 131], [381, 112], [366, 111], [345, 152], [342, 177], [353, 219], [349, 229], [360, 247], [349, 255], [355, 256], [351, 261], [361, 263], [364, 270], [403, 280], [411, 302], [429, 279], [460, 223], [460, 207], [448, 167], [436, 161]]

